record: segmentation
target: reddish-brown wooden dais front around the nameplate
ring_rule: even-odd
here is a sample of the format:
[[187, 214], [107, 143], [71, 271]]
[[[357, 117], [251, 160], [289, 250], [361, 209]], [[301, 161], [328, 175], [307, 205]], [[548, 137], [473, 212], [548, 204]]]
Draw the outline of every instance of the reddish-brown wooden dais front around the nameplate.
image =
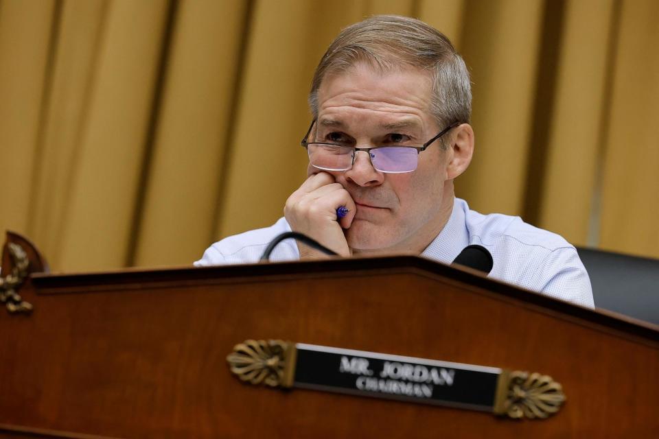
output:
[[[659, 433], [654, 327], [430, 261], [47, 276], [33, 283], [41, 294], [24, 296], [34, 314], [0, 318], [0, 331], [10, 334], [0, 344], [3, 425], [125, 438]], [[256, 388], [235, 379], [225, 359], [248, 338], [543, 372], [562, 383], [568, 401], [553, 418], [517, 422]]]

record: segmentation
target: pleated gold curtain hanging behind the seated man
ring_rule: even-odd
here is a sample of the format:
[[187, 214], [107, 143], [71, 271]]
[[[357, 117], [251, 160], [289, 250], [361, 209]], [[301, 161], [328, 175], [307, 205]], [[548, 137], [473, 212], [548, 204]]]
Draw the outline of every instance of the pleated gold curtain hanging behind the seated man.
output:
[[655, 0], [0, 0], [0, 230], [73, 271], [186, 265], [272, 224], [316, 62], [384, 13], [472, 71], [472, 209], [659, 257]]

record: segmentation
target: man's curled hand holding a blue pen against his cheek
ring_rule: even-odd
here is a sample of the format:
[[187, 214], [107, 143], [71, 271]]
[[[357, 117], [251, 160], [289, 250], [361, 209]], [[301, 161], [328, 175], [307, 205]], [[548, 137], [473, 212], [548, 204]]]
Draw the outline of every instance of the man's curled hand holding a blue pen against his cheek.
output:
[[[338, 219], [336, 209], [345, 206], [348, 214]], [[348, 191], [327, 172], [319, 172], [294, 191], [284, 207], [284, 216], [294, 232], [312, 237], [340, 256], [350, 256], [343, 228], [349, 228], [356, 205]], [[321, 252], [298, 243], [300, 259], [316, 258]]]

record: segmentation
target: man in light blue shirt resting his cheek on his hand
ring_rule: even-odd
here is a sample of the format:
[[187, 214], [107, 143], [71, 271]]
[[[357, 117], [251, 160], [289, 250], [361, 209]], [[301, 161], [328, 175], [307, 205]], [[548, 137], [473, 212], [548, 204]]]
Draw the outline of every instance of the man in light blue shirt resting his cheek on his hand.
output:
[[[446, 36], [401, 16], [351, 25], [316, 68], [309, 102], [308, 178], [284, 218], [213, 244], [197, 265], [255, 262], [290, 230], [344, 257], [413, 252], [450, 263], [480, 244], [494, 258], [490, 276], [593, 306], [588, 274], [562, 237], [455, 198], [474, 132], [469, 73]], [[288, 240], [271, 260], [319, 256]]]

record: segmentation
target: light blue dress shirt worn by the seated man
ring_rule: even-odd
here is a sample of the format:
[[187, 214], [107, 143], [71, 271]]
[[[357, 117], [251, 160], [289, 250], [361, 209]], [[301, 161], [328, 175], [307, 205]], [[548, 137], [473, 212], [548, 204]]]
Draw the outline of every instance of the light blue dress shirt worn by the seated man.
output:
[[[224, 238], [210, 246], [195, 265], [255, 263], [268, 243], [284, 232], [290, 232], [290, 226], [281, 218], [273, 226]], [[533, 227], [520, 217], [471, 211], [467, 202], [459, 198], [454, 201], [446, 226], [421, 256], [451, 263], [471, 244], [479, 244], [492, 253], [494, 267], [489, 277], [594, 307], [588, 273], [568, 241]], [[292, 261], [299, 257], [295, 241], [287, 239], [275, 248], [270, 261]]]

